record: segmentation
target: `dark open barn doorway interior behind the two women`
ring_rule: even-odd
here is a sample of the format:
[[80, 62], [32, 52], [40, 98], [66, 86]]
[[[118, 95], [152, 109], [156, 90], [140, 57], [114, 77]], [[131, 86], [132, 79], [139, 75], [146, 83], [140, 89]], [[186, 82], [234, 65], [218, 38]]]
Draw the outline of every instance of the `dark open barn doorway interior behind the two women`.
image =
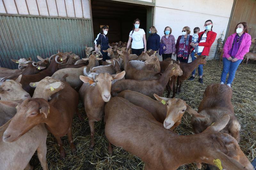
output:
[[94, 38], [99, 34], [100, 26], [107, 25], [109, 26], [109, 43], [128, 41], [133, 20], [136, 18], [140, 19], [140, 28], [146, 32], [147, 7], [145, 5], [107, 0], [92, 0], [91, 2]]

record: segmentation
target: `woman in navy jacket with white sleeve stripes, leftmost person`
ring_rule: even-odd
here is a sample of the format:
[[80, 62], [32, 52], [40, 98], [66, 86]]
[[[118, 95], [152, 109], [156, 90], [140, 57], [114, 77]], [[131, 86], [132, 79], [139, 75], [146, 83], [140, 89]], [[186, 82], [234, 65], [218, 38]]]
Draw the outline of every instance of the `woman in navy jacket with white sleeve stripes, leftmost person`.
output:
[[108, 56], [108, 52], [103, 52], [103, 50], [107, 50], [108, 48], [112, 48], [109, 45], [108, 37], [106, 36], [108, 33], [108, 26], [102, 26], [100, 29], [100, 33], [97, 35], [97, 38], [95, 39], [95, 51], [97, 52], [99, 49], [97, 46], [100, 44], [100, 52], [102, 54], [102, 60], [106, 61], [109, 60], [110, 57]]

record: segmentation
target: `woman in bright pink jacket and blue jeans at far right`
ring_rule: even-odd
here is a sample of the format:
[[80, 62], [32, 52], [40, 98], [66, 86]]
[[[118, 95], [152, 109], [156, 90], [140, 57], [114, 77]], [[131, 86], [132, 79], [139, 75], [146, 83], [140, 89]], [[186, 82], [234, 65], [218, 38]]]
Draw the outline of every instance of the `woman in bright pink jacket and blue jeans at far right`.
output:
[[248, 34], [246, 22], [237, 24], [235, 32], [228, 37], [223, 48], [223, 70], [220, 78], [220, 84], [225, 84], [229, 73], [227, 85], [230, 87], [235, 78], [236, 69], [251, 46], [251, 35]]

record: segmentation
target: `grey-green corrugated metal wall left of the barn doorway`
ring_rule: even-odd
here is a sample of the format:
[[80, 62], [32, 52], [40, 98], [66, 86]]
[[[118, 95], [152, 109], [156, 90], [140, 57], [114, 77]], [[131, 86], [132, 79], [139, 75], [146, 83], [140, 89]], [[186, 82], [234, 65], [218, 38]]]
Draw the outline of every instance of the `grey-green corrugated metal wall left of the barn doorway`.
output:
[[85, 45], [92, 47], [90, 19], [62, 19], [0, 16], [0, 65], [17, 68], [11, 59], [43, 58], [58, 50], [85, 56]]

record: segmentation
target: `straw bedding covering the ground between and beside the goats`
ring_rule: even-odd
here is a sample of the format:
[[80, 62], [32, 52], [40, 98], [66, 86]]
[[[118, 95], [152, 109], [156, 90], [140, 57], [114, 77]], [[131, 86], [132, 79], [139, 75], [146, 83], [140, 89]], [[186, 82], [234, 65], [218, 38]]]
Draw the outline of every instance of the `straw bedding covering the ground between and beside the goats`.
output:
[[[212, 83], [220, 82], [222, 68], [218, 67], [218, 61], [208, 61], [204, 66], [204, 85], [197, 81], [185, 81], [182, 85], [182, 91], [177, 98], [185, 100], [191, 107], [197, 110], [200, 101], [203, 98], [205, 88]], [[233, 82], [233, 97], [235, 115], [241, 124], [241, 142], [240, 147], [252, 160], [256, 157], [256, 74], [255, 63], [247, 66], [242, 64], [236, 72], [236, 78]], [[196, 71], [197, 72], [197, 71]], [[164, 96], [166, 97], [166, 91]], [[89, 149], [90, 128], [88, 119], [84, 113], [82, 103], [79, 103], [79, 111], [83, 113], [84, 122], [80, 122], [77, 115], [73, 120], [73, 137], [77, 152], [75, 156], [71, 155], [68, 138], [62, 137], [63, 147], [66, 150], [67, 157], [60, 160], [59, 146], [55, 138], [49, 134], [47, 138], [47, 162], [49, 169], [143, 169], [144, 163], [136, 156], [124, 151], [119, 147], [114, 147], [113, 155], [107, 151], [107, 140], [104, 135], [104, 123], [95, 123], [95, 148]], [[184, 114], [181, 124], [175, 129], [179, 135], [191, 135], [192, 127], [190, 125], [191, 116]], [[204, 140], [204, 139], [202, 139]], [[152, 155], [153, 156], [153, 155]], [[35, 169], [42, 169], [36, 154], [31, 159], [31, 165]], [[179, 169], [197, 169], [195, 164], [180, 166]], [[203, 166], [203, 169], [205, 167]]]

